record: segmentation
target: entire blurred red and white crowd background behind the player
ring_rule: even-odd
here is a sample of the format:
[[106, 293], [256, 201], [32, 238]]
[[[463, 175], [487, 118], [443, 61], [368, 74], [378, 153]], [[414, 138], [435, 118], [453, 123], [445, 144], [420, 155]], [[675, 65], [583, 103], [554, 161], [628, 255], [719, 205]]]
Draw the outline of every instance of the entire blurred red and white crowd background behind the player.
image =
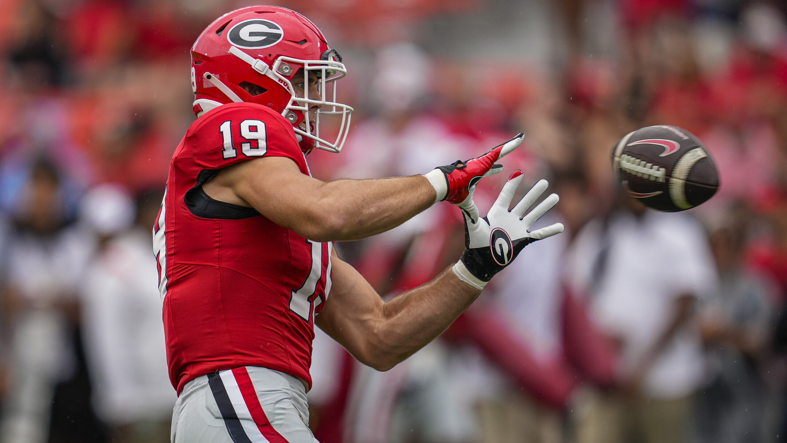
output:
[[[0, 443], [168, 441], [150, 230], [194, 120], [189, 49], [236, 0], [0, 2]], [[319, 179], [428, 172], [515, 133], [560, 203], [442, 335], [387, 372], [317, 331], [323, 443], [787, 436], [787, 6], [745, 0], [306, 0], [356, 116]], [[698, 136], [722, 186], [645, 209], [611, 148]], [[476, 191], [489, 209], [505, 177]], [[458, 209], [336, 245], [382, 297], [453, 264]]]

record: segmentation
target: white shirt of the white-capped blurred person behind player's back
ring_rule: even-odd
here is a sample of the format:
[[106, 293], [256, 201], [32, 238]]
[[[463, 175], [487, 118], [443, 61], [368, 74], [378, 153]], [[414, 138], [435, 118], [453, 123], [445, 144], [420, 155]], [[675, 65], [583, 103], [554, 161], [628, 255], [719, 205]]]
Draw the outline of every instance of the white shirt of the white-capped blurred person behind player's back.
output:
[[169, 419], [176, 393], [168, 378], [150, 232], [134, 229], [111, 240], [88, 268], [82, 293], [98, 415], [114, 425]]

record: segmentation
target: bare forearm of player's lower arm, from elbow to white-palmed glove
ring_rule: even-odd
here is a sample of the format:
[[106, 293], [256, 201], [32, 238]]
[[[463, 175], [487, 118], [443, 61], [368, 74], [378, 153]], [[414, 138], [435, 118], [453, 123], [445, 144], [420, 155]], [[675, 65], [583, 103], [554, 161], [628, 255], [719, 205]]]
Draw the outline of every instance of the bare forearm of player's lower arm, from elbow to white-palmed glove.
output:
[[433, 281], [387, 302], [371, 334], [371, 366], [387, 371], [416, 353], [448, 329], [479, 293], [448, 268]]

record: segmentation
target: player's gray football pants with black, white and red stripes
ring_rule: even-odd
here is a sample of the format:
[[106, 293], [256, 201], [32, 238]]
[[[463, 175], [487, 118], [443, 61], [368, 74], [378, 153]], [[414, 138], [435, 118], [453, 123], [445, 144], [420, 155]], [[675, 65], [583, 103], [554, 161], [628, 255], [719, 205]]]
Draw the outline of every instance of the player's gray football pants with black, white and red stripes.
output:
[[172, 443], [318, 443], [292, 375], [236, 367], [194, 378], [172, 413]]

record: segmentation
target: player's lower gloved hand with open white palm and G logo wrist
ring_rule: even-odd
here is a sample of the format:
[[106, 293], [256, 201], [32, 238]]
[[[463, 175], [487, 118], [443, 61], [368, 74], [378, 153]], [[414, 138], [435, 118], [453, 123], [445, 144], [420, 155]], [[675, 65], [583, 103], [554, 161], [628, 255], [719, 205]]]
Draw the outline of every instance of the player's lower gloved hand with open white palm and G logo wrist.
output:
[[516, 170], [503, 186], [489, 214], [482, 219], [473, 220], [464, 208], [464, 253], [454, 265], [453, 271], [467, 284], [481, 290], [497, 272], [502, 271], [519, 255], [522, 249], [536, 240], [551, 237], [563, 232], [563, 224], [555, 223], [536, 231], [528, 231], [536, 220], [552, 209], [557, 194], [551, 194], [532, 211], [530, 205], [544, 193], [549, 183], [539, 180], [530, 191], [508, 211], [514, 197], [522, 171]]

